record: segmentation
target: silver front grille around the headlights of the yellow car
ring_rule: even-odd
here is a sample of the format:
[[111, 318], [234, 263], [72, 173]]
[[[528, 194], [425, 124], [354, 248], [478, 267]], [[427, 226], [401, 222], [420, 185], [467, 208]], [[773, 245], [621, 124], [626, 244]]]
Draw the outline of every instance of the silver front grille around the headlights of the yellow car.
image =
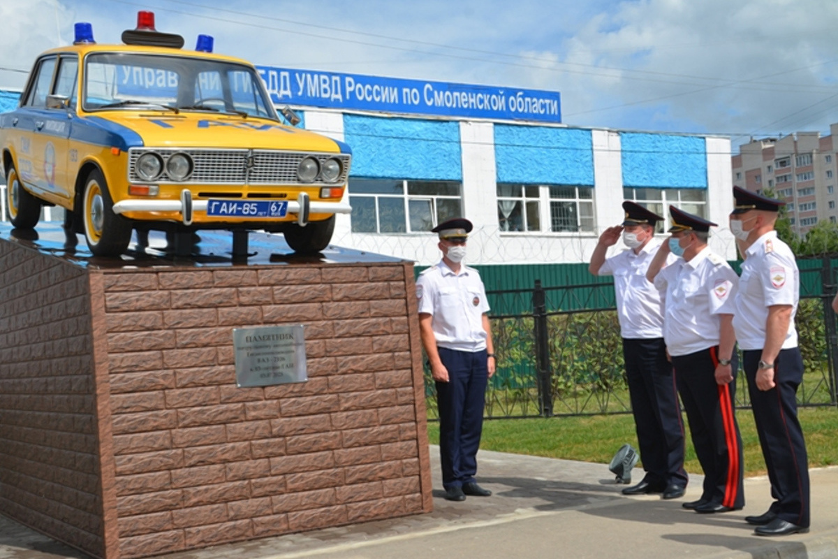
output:
[[[349, 154], [344, 153], [296, 153], [260, 149], [147, 149], [132, 148], [128, 151], [128, 180], [132, 183], [147, 183], [136, 173], [137, 159], [153, 152], [163, 158], [163, 167], [175, 153], [187, 153], [194, 162], [194, 170], [184, 181], [168, 179], [165, 172], [155, 184], [343, 184], [349, 175]], [[324, 183], [316, 179], [313, 183], [301, 183], [297, 179], [297, 167], [303, 158], [317, 158], [321, 166], [326, 159], [338, 158], [344, 164], [340, 179]], [[250, 166], [248, 166], [250, 161]]]

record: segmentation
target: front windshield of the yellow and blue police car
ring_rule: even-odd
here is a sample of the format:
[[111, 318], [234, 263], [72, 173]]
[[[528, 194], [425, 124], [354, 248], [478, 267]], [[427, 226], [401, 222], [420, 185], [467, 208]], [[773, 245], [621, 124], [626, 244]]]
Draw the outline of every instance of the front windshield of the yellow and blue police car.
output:
[[162, 54], [88, 56], [84, 108], [208, 111], [278, 120], [251, 67]]

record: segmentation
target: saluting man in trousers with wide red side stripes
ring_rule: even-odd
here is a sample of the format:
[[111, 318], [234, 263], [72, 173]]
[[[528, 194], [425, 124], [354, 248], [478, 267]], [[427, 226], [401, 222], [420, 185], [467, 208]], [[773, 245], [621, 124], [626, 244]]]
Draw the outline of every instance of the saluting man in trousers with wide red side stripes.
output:
[[[707, 246], [715, 223], [675, 206], [670, 217], [672, 236], [658, 249], [646, 277], [666, 293], [666, 349], [704, 470], [701, 499], [682, 506], [697, 513], [740, 510], [744, 468], [734, 408], [738, 363], [732, 325], [739, 277]], [[661, 269], [670, 252], [680, 258]]]

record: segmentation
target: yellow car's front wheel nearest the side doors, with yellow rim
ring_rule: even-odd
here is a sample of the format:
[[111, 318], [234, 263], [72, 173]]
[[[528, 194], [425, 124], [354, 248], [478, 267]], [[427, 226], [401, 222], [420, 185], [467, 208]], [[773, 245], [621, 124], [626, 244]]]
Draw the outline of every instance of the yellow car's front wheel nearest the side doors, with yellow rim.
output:
[[85, 182], [82, 199], [87, 246], [96, 256], [119, 256], [131, 241], [131, 222], [113, 213], [113, 200], [105, 177], [99, 170], [91, 172]]

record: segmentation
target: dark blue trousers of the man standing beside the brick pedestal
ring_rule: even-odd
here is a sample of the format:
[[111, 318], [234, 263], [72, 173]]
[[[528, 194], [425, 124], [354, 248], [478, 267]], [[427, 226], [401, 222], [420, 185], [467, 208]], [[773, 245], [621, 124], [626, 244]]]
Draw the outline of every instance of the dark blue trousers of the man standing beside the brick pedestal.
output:
[[485, 349], [475, 352], [438, 348], [448, 382], [437, 382], [439, 452], [445, 489], [474, 481], [483, 432], [489, 370]]

